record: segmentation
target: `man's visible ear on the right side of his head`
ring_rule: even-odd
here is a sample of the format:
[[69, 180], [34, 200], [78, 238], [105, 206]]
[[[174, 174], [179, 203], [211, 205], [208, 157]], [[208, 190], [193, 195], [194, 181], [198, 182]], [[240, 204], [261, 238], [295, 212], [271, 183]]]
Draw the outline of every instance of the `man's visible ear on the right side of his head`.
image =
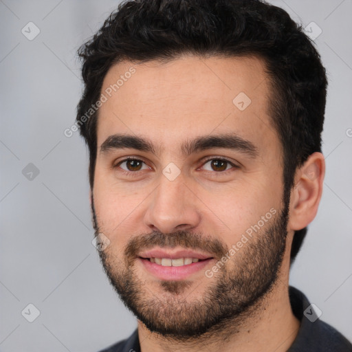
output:
[[322, 153], [309, 155], [303, 166], [296, 170], [289, 201], [289, 230], [301, 230], [316, 217], [324, 177], [325, 159]]

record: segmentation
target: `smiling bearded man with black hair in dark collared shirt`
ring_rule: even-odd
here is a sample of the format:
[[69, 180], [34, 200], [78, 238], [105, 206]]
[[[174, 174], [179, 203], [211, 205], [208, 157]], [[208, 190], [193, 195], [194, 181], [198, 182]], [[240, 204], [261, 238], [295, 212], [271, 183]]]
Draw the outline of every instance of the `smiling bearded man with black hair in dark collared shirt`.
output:
[[94, 229], [137, 329], [104, 351], [352, 351], [289, 287], [327, 79], [259, 0], [126, 1], [79, 51]]

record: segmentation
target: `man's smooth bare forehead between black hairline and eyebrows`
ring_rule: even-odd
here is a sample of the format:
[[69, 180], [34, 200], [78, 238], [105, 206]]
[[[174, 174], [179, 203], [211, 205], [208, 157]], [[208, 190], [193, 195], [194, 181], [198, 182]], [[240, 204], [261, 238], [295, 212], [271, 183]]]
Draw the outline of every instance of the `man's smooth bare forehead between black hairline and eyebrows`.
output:
[[107, 100], [98, 112], [98, 147], [113, 133], [160, 146], [229, 132], [262, 146], [278, 143], [267, 115], [269, 87], [264, 63], [254, 57], [115, 64], [102, 84]]

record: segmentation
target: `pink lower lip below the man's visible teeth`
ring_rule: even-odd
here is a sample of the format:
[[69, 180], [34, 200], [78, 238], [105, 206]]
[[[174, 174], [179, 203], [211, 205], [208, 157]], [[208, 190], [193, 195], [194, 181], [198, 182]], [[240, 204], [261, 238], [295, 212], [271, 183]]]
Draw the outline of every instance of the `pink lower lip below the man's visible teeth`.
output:
[[[192, 256], [190, 256], [192, 257]], [[153, 258], [153, 257], [152, 257]], [[156, 256], [156, 258], [159, 258]], [[170, 258], [169, 256], [162, 256], [162, 258]], [[182, 256], [177, 257], [182, 258]], [[193, 257], [195, 258], [195, 257]], [[176, 259], [176, 258], [173, 258]], [[173, 281], [181, 281], [192, 274], [195, 274], [207, 265], [210, 265], [214, 258], [204, 259], [202, 261], [198, 261], [197, 263], [191, 263], [188, 265], [183, 265], [181, 267], [164, 267], [163, 265], [159, 265], [156, 263], [151, 263], [148, 259], [137, 258], [137, 261], [141, 263], [146, 271], [151, 273], [153, 276], [156, 276], [160, 280], [173, 280]]]

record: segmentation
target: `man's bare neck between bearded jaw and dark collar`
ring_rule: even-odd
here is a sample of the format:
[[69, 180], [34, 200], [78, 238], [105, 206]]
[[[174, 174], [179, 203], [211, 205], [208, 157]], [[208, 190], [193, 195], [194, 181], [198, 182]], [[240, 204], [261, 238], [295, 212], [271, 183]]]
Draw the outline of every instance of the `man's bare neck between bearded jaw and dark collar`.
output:
[[[281, 273], [289, 272], [282, 270]], [[289, 303], [288, 274], [285, 278], [279, 274], [271, 292], [246, 316], [236, 317], [232, 323], [224, 325], [221, 333], [210, 332], [201, 338], [181, 342], [149, 331], [138, 320], [138, 336], [142, 352], [208, 352], [219, 349], [223, 352], [284, 352], [294, 342], [299, 325]]]

